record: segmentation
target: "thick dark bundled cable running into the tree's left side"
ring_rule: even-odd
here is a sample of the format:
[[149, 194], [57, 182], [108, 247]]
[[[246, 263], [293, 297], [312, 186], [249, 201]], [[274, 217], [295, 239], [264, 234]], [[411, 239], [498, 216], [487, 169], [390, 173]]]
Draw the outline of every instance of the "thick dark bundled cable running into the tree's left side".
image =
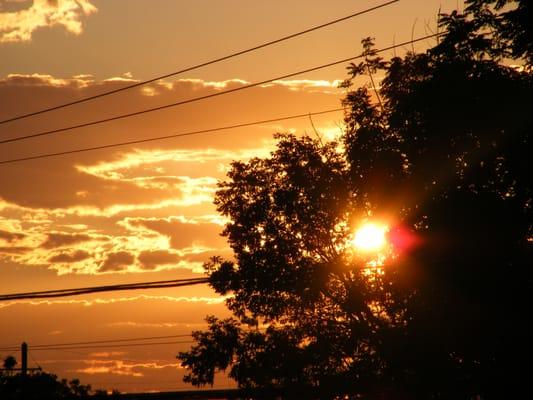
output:
[[180, 287], [208, 283], [208, 278], [173, 279], [166, 281], [128, 283], [106, 286], [92, 286], [75, 289], [46, 290], [41, 292], [13, 293], [0, 295], [0, 301], [21, 299], [44, 299], [53, 297], [77, 296], [81, 294], [112, 292], [119, 290], [159, 289], [168, 287]]

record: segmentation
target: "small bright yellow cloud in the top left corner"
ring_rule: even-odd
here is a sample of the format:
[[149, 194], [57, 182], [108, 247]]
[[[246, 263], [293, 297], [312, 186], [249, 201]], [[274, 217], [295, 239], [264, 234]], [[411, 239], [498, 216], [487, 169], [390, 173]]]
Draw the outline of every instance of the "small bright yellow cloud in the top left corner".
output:
[[62, 26], [79, 35], [81, 18], [96, 11], [89, 0], [34, 0], [29, 8], [0, 13], [0, 43], [30, 41], [34, 31], [44, 27]]

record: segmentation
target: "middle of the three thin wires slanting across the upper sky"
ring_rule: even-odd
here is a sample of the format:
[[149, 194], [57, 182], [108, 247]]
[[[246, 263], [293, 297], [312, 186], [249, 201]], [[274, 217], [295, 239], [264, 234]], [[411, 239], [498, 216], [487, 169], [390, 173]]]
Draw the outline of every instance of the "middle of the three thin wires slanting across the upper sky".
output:
[[[413, 44], [413, 43], [420, 42], [420, 41], [423, 41], [423, 40], [431, 39], [431, 38], [440, 36], [442, 34], [443, 33], [435, 33], [435, 34], [423, 36], [423, 37], [420, 37], [420, 38], [417, 38], [417, 39], [412, 39], [412, 40], [409, 40], [409, 41], [406, 41], [406, 42], [403, 42], [403, 43], [399, 43], [399, 44], [395, 44], [395, 45], [392, 45], [392, 46], [389, 46], [389, 47], [384, 47], [382, 49], [375, 50], [373, 53], [374, 54], [382, 53], [382, 52], [385, 52], [385, 51], [388, 51], [388, 50], [395, 49], [397, 47], [402, 47], [402, 46], [406, 46], [408, 44]], [[40, 137], [40, 136], [52, 135], [52, 134], [59, 133], [59, 132], [65, 132], [65, 131], [69, 131], [69, 130], [73, 130], [73, 129], [78, 129], [78, 128], [84, 128], [84, 127], [88, 127], [88, 126], [103, 124], [103, 123], [106, 123], [106, 122], [111, 122], [111, 121], [116, 121], [116, 120], [120, 120], [120, 119], [124, 119], [124, 118], [129, 118], [129, 117], [134, 117], [134, 116], [138, 116], [138, 115], [142, 115], [142, 114], [151, 113], [151, 112], [154, 112], [154, 111], [160, 111], [160, 110], [164, 110], [164, 109], [171, 108], [171, 107], [182, 106], [182, 105], [185, 105], [185, 104], [194, 103], [194, 102], [197, 102], [197, 101], [206, 100], [206, 99], [210, 99], [210, 98], [223, 96], [223, 95], [226, 95], [226, 94], [235, 93], [235, 92], [239, 92], [239, 91], [242, 91], [242, 90], [254, 88], [254, 87], [257, 87], [257, 86], [265, 85], [267, 83], [272, 83], [274, 81], [278, 81], [278, 80], [282, 80], [282, 79], [286, 79], [286, 78], [292, 78], [294, 76], [305, 74], [305, 73], [308, 73], [308, 72], [318, 71], [318, 70], [321, 70], [321, 69], [324, 69], [324, 68], [332, 67], [334, 65], [339, 65], [339, 64], [346, 63], [348, 61], [353, 61], [353, 60], [356, 60], [356, 59], [359, 59], [359, 58], [363, 58], [365, 56], [366, 56], [366, 54], [362, 53], [362, 54], [359, 54], [357, 56], [344, 58], [342, 60], [333, 61], [333, 62], [330, 62], [330, 63], [327, 63], [327, 64], [322, 64], [322, 65], [319, 65], [319, 66], [316, 66], [316, 67], [308, 68], [308, 69], [305, 69], [305, 70], [300, 70], [300, 71], [297, 71], [297, 72], [292, 72], [290, 74], [277, 76], [275, 78], [270, 78], [270, 79], [266, 79], [266, 80], [255, 82], [255, 83], [250, 83], [250, 84], [247, 84], [247, 85], [244, 85], [244, 86], [239, 86], [237, 88], [228, 89], [228, 90], [224, 90], [224, 91], [221, 91], [221, 92], [216, 92], [216, 93], [211, 93], [211, 94], [208, 94], [208, 95], [193, 97], [193, 98], [190, 98], [190, 99], [187, 99], [187, 100], [181, 100], [181, 101], [174, 102], [174, 103], [164, 104], [164, 105], [158, 106], [158, 107], [146, 108], [146, 109], [143, 109], [143, 110], [134, 111], [134, 112], [127, 113], [127, 114], [120, 114], [120, 115], [116, 115], [116, 116], [113, 116], [113, 117], [108, 117], [108, 118], [103, 118], [103, 119], [99, 119], [99, 120], [93, 120], [93, 121], [89, 121], [89, 122], [84, 122], [84, 123], [77, 124], [77, 125], [70, 125], [70, 126], [63, 127], [63, 128], [58, 128], [58, 129], [52, 129], [52, 130], [48, 130], [48, 131], [33, 133], [33, 134], [25, 135], [25, 136], [19, 136], [19, 137], [16, 137], [16, 138], [4, 139], [4, 140], [0, 141], [0, 144], [18, 142], [18, 141], [21, 141], [21, 140], [36, 138], [36, 137]]]

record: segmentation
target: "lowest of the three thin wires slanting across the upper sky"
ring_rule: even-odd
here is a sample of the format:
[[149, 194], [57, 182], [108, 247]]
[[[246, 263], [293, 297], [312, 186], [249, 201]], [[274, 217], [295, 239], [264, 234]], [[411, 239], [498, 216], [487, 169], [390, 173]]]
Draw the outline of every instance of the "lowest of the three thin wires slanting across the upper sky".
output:
[[217, 127], [217, 128], [202, 129], [202, 130], [198, 130], [198, 131], [175, 133], [175, 134], [166, 135], [166, 136], [158, 136], [158, 137], [153, 137], [153, 138], [130, 140], [130, 141], [127, 141], [127, 142], [111, 143], [111, 144], [106, 144], [106, 145], [101, 145], [101, 146], [84, 147], [84, 148], [80, 148], [80, 149], [66, 150], [66, 151], [61, 151], [61, 152], [56, 152], [56, 153], [45, 153], [45, 154], [38, 154], [38, 155], [35, 155], [35, 156], [13, 158], [13, 159], [10, 159], [10, 160], [0, 161], [0, 165], [10, 164], [10, 163], [15, 163], [15, 162], [21, 162], [21, 161], [37, 160], [37, 159], [41, 159], [41, 158], [57, 157], [57, 156], [63, 156], [63, 155], [67, 155], [67, 154], [83, 153], [83, 152], [93, 151], [93, 150], [109, 149], [109, 148], [112, 148], [112, 147], [127, 146], [127, 145], [132, 145], [132, 144], [147, 143], [147, 142], [153, 142], [153, 141], [157, 141], [157, 140], [173, 139], [173, 138], [179, 138], [179, 137], [184, 137], [184, 136], [194, 136], [194, 135], [200, 135], [200, 134], [209, 133], [209, 132], [219, 132], [219, 131], [224, 131], [224, 130], [229, 130], [229, 129], [242, 128], [242, 127], [246, 127], [246, 126], [260, 125], [260, 124], [266, 124], [266, 123], [270, 123], [270, 122], [278, 122], [278, 121], [285, 121], [285, 120], [290, 120], [290, 119], [309, 117], [310, 115], [328, 114], [328, 113], [332, 113], [332, 112], [336, 112], [336, 111], [342, 111], [342, 110], [343, 110], [343, 108], [335, 108], [335, 109], [331, 109], [331, 110], [317, 111], [317, 112], [306, 113], [306, 114], [289, 115], [289, 116], [286, 116], [286, 117], [271, 118], [271, 119], [265, 119], [265, 120], [261, 120], [261, 121], [244, 122], [244, 123], [241, 123], [241, 124], [221, 126], [221, 127]]

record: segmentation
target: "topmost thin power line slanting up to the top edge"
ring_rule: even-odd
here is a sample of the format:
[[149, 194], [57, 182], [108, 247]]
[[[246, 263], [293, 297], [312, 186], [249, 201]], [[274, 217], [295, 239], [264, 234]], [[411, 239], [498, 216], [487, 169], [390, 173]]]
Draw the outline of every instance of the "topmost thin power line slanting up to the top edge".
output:
[[393, 3], [397, 3], [398, 1], [400, 1], [400, 0], [388, 1], [386, 3], [377, 5], [375, 7], [367, 8], [367, 9], [365, 9], [363, 11], [358, 11], [358, 12], [355, 12], [353, 14], [347, 15], [345, 17], [338, 18], [338, 19], [323, 23], [321, 25], [313, 26], [313, 27], [305, 29], [303, 31], [292, 33], [290, 35], [283, 36], [281, 38], [274, 39], [274, 40], [262, 43], [260, 45], [254, 46], [254, 47], [250, 47], [250, 48], [245, 49], [245, 50], [237, 51], [237, 52], [228, 54], [228, 55], [220, 57], [220, 58], [216, 58], [216, 59], [213, 59], [213, 60], [210, 60], [210, 61], [206, 61], [206, 62], [203, 62], [203, 63], [200, 63], [200, 64], [196, 64], [196, 65], [193, 65], [193, 66], [190, 66], [190, 67], [186, 67], [186, 68], [181, 69], [179, 71], [170, 72], [170, 73], [165, 74], [165, 75], [161, 75], [161, 76], [157, 76], [155, 78], [151, 78], [151, 79], [148, 79], [148, 80], [145, 80], [145, 81], [137, 82], [137, 83], [134, 83], [134, 84], [131, 84], [131, 85], [128, 85], [128, 86], [124, 86], [122, 88], [118, 88], [118, 89], [110, 90], [110, 91], [107, 91], [107, 92], [99, 93], [99, 94], [96, 94], [94, 96], [84, 97], [82, 99], [78, 99], [78, 100], [71, 101], [71, 102], [68, 102], [68, 103], [63, 103], [63, 104], [60, 104], [60, 105], [57, 105], [57, 106], [45, 108], [45, 109], [42, 109], [42, 110], [39, 110], [39, 111], [34, 111], [34, 112], [27, 113], [27, 114], [19, 115], [19, 116], [16, 116], [16, 117], [11, 117], [11, 118], [8, 118], [8, 119], [0, 121], [0, 124], [5, 124], [5, 123], [8, 123], [8, 122], [17, 121], [17, 120], [20, 120], [20, 119], [32, 117], [32, 116], [39, 115], [39, 114], [44, 114], [44, 113], [49, 112], [49, 111], [58, 110], [58, 109], [69, 107], [69, 106], [72, 106], [72, 105], [75, 105], [75, 104], [85, 103], [85, 102], [90, 101], [90, 100], [94, 100], [94, 99], [98, 99], [98, 98], [101, 98], [101, 97], [109, 96], [109, 95], [112, 95], [112, 94], [115, 94], [115, 93], [123, 92], [125, 90], [133, 89], [133, 88], [136, 88], [136, 87], [139, 87], [139, 86], [144, 86], [144, 85], [147, 85], [149, 83], [153, 83], [153, 82], [159, 81], [161, 79], [170, 78], [172, 76], [179, 75], [179, 74], [182, 74], [182, 73], [185, 73], [185, 72], [190, 72], [190, 71], [193, 71], [195, 69], [206, 67], [208, 65], [213, 65], [213, 64], [219, 63], [221, 61], [226, 61], [226, 60], [229, 60], [231, 58], [238, 57], [238, 56], [241, 56], [241, 55], [244, 55], [244, 54], [247, 54], [247, 53], [251, 53], [253, 51], [256, 51], [256, 50], [259, 50], [259, 49], [262, 49], [262, 48], [265, 48], [265, 47], [268, 47], [268, 46], [272, 46], [274, 44], [278, 44], [278, 43], [281, 43], [281, 42], [284, 42], [284, 41], [287, 41], [287, 40], [290, 40], [290, 39], [294, 39], [294, 38], [296, 38], [298, 36], [305, 35], [307, 33], [310, 33], [310, 32], [313, 32], [313, 31], [316, 31], [316, 30], [319, 30], [319, 29], [322, 29], [322, 28], [337, 24], [339, 22], [343, 22], [343, 21], [349, 20], [351, 18], [355, 18], [355, 17], [358, 17], [360, 15], [367, 14], [367, 13], [369, 13], [371, 11], [375, 11], [375, 10], [378, 10], [380, 8], [392, 5]]

